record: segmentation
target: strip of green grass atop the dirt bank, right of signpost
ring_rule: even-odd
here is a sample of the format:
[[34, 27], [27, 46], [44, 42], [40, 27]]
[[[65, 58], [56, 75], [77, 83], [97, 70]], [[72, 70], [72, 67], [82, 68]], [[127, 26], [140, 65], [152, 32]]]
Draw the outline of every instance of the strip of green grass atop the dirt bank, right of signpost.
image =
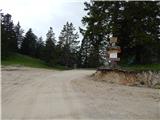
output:
[[160, 71], [160, 64], [146, 64], [146, 65], [121, 65], [123, 69], [130, 71]]

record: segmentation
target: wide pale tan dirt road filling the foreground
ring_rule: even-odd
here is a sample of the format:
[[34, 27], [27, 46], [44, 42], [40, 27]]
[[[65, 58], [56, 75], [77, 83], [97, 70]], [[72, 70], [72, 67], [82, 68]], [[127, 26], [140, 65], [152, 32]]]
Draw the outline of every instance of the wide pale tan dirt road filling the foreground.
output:
[[90, 80], [94, 72], [2, 68], [2, 119], [160, 118], [159, 90]]

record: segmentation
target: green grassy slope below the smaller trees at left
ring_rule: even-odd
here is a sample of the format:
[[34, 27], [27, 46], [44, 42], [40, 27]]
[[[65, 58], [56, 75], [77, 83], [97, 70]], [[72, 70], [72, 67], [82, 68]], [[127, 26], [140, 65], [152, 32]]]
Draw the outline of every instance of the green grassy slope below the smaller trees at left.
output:
[[63, 66], [49, 67], [47, 64], [39, 59], [32, 58], [26, 55], [21, 55], [18, 53], [14, 53], [10, 55], [7, 59], [1, 61], [2, 65], [19, 65], [19, 66], [26, 66], [26, 67], [34, 67], [34, 68], [47, 68], [47, 69], [58, 69], [64, 70]]

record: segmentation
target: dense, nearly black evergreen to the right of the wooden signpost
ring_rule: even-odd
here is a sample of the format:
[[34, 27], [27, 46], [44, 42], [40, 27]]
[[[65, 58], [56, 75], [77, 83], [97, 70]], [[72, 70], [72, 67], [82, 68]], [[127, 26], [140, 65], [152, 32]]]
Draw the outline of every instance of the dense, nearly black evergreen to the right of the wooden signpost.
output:
[[121, 27], [117, 30], [122, 58], [129, 58], [136, 64], [158, 61], [158, 2], [125, 2], [123, 7], [122, 22], [119, 23]]

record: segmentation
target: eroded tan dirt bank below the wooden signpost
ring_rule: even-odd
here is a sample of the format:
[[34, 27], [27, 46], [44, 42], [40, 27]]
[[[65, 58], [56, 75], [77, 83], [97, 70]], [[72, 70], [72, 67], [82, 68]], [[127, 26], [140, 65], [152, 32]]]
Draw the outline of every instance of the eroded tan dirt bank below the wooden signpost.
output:
[[97, 71], [94, 80], [129, 86], [160, 88], [160, 72], [128, 72], [123, 70]]

